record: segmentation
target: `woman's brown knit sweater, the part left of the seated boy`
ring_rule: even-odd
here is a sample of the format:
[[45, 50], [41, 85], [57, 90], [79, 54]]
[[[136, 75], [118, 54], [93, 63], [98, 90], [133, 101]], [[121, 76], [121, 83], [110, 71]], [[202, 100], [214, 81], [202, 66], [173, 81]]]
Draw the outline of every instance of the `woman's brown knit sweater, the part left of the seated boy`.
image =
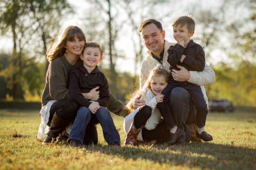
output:
[[78, 60], [75, 65], [71, 65], [65, 56], [55, 58], [46, 72], [46, 82], [42, 95], [42, 105], [46, 105], [50, 100], [71, 99], [68, 90], [68, 77], [71, 69], [82, 63]]

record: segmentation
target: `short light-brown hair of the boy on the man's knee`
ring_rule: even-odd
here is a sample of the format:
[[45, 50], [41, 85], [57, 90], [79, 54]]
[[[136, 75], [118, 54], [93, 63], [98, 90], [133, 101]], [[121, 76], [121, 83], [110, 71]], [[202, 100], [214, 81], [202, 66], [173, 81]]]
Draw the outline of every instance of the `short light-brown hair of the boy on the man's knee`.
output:
[[172, 27], [177, 27], [177, 25], [181, 25], [181, 27], [183, 27], [183, 25], [185, 25], [185, 24], [188, 27], [188, 31], [195, 31], [196, 23], [192, 19], [191, 15], [190, 16], [180, 16], [173, 22]]

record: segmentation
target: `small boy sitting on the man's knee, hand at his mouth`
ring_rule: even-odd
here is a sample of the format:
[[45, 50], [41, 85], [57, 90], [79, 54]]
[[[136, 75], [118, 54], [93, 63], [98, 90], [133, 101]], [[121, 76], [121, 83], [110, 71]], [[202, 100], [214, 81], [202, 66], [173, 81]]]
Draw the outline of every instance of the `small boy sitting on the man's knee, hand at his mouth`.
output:
[[[177, 65], [180, 65], [188, 71], [203, 71], [205, 66], [204, 50], [199, 44], [190, 39], [195, 31], [195, 21], [190, 16], [181, 16], [173, 22], [172, 26], [173, 37], [177, 40], [177, 44], [168, 49], [167, 62], [170, 64], [170, 70], [180, 70], [177, 67]], [[157, 105], [164, 118], [166, 128], [170, 129], [172, 139], [169, 140], [169, 144], [174, 144], [181, 134], [180, 128], [177, 126], [172, 113], [170, 113], [171, 109], [167, 98], [175, 87], [186, 89], [189, 92], [190, 100], [196, 107], [197, 138], [204, 141], [213, 140], [212, 136], [204, 130], [208, 109], [201, 87], [189, 82], [177, 81], [170, 74], [169, 84], [162, 91], [162, 94], [166, 97], [164, 97], [162, 103]]]

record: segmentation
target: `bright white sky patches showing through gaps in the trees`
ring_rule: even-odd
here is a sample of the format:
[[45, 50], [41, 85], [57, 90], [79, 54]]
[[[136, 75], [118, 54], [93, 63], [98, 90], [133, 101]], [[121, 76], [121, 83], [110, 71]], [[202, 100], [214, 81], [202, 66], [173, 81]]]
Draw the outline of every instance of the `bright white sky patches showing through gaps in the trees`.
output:
[[[142, 1], [142, 0], [140, 0]], [[140, 3], [140, 1], [138, 1], [138, 3]], [[85, 36], [86, 36], [86, 25], [84, 25], [84, 22], [82, 20], [84, 20], [85, 16], [86, 16], [86, 11], [89, 10], [89, 8], [92, 8], [92, 6], [85, 0], [76, 0], [76, 1], [71, 1], [68, 0], [68, 2], [71, 4], [71, 6], [74, 7], [74, 11], [75, 14], [73, 15], [68, 15], [65, 16], [65, 18], [63, 20], [61, 20], [61, 28], [60, 30], [63, 30], [64, 28], [66, 28], [68, 25], [77, 25], [78, 27], [81, 27], [83, 29], [83, 31], [85, 32]], [[171, 23], [174, 21], [175, 18], [177, 18], [178, 16], [182, 16], [182, 15], [187, 15], [189, 13], [189, 11], [193, 11], [193, 9], [189, 9], [188, 7], [191, 6], [191, 4], [200, 4], [202, 9], [206, 9], [206, 8], [211, 8], [212, 10], [217, 10], [218, 7], [220, 6], [220, 4], [222, 3], [222, 0], [218, 0], [218, 1], [207, 1], [207, 0], [180, 0], [178, 3], [176, 1], [172, 1], [175, 3], [170, 3], [170, 4], [165, 4], [164, 6], [162, 6], [161, 8], [156, 9], [155, 13], [161, 13], [163, 11], [170, 11], [169, 8], [170, 6], [172, 8], [175, 8], [175, 11], [170, 11], [172, 12], [172, 14], [170, 15], [170, 17], [166, 17], [163, 18], [161, 21], [161, 23], [163, 24], [163, 28], [166, 31], [166, 39], [170, 42], [174, 42], [174, 38], [172, 36], [172, 27], [171, 27]], [[189, 10], [187, 10], [189, 9]], [[95, 9], [97, 10], [97, 9]], [[232, 11], [230, 11], [232, 14], [232, 16], [234, 18], [236, 17], [240, 17], [241, 15], [245, 15], [244, 10], [240, 9], [234, 9], [235, 11], [233, 11], [234, 13], [232, 13]], [[115, 11], [113, 12], [113, 15], [115, 14]], [[125, 15], [121, 14], [118, 15], [118, 19], [119, 20], [124, 20]], [[158, 19], [157, 16], [153, 16], [153, 18]], [[145, 18], [144, 20], [149, 19], [149, 18]], [[139, 22], [138, 22], [138, 26], [139, 26]], [[134, 32], [130, 31], [129, 29], [130, 25], [129, 23], [125, 23], [123, 29], [119, 32], [119, 36], [116, 40], [115, 46], [118, 49], [118, 51], [121, 51], [122, 54], [125, 56], [124, 58], [119, 58], [117, 60], [117, 65], [116, 65], [116, 69], [118, 71], [121, 72], [130, 72], [131, 74], [139, 74], [139, 69], [137, 71], [134, 71], [134, 50], [133, 50], [133, 45], [132, 45], [132, 37], [134, 37]], [[194, 37], [197, 36], [197, 33], [200, 30], [196, 30]], [[225, 41], [227, 41], [227, 39], [222, 38], [220, 40], [220, 43], [225, 43]], [[0, 39], [0, 49], [6, 51], [6, 52], [11, 52], [12, 49], [12, 38], [10, 35], [5, 35], [5, 36], [1, 36]], [[146, 56], [146, 52], [147, 49], [144, 48], [143, 49], [143, 53]], [[104, 57], [104, 56], [103, 56]], [[225, 61], [225, 62], [229, 62], [229, 59], [226, 55], [223, 54], [222, 51], [215, 49], [214, 52], [211, 54], [211, 57], [209, 58], [208, 61], [206, 61], [206, 63], [208, 64], [215, 64], [219, 61]], [[101, 64], [106, 64], [108, 62], [108, 60], [103, 60], [103, 62]], [[139, 65], [138, 65], [139, 66]]]

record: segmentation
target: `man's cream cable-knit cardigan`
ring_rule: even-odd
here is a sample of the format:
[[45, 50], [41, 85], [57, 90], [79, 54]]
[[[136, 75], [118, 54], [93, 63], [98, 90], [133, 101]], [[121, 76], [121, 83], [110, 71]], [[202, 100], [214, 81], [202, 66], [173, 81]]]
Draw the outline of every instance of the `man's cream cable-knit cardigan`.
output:
[[[170, 65], [167, 63], [167, 57], [168, 57], [168, 52], [167, 50], [169, 49], [170, 46], [175, 45], [175, 43], [169, 43], [167, 40], [165, 40], [164, 44], [164, 57], [163, 57], [163, 67], [165, 70], [170, 72]], [[151, 56], [151, 52], [148, 51], [148, 56], [145, 58], [145, 60], [142, 61], [141, 63], [141, 69], [140, 69], [140, 89], [144, 86], [145, 82], [148, 79], [149, 73], [151, 70], [154, 69], [155, 66], [160, 64], [155, 58]], [[215, 73], [205, 63], [204, 70], [202, 72], [197, 72], [197, 71], [189, 71], [190, 73], [190, 78], [188, 82], [196, 84], [197, 86], [201, 86], [202, 92], [204, 94], [204, 99], [206, 101], [206, 104], [208, 105], [208, 98], [205, 93], [204, 85], [212, 84], [215, 81]]]

